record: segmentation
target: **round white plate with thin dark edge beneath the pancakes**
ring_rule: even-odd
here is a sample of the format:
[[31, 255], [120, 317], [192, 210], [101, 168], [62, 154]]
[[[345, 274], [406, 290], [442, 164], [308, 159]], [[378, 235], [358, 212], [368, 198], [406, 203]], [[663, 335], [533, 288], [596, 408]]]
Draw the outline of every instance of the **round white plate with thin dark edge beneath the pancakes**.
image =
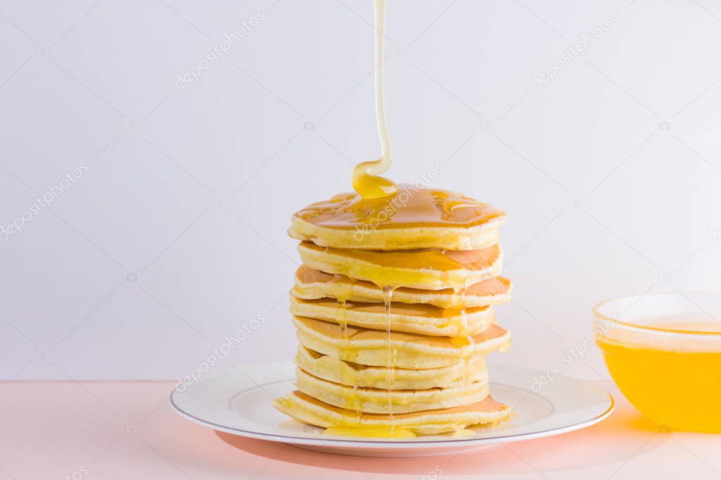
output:
[[498, 427], [471, 427], [475, 435], [433, 435], [411, 439], [374, 439], [324, 435], [323, 429], [292, 420], [270, 404], [295, 389], [292, 363], [205, 373], [197, 383], [179, 386], [170, 404], [182, 417], [221, 432], [309, 450], [355, 456], [418, 457], [472, 452], [500, 443], [548, 437], [600, 422], [614, 399], [586, 381], [557, 376], [531, 391], [534, 376], [525, 368], [492, 369], [493, 397], [513, 407], [516, 417]]

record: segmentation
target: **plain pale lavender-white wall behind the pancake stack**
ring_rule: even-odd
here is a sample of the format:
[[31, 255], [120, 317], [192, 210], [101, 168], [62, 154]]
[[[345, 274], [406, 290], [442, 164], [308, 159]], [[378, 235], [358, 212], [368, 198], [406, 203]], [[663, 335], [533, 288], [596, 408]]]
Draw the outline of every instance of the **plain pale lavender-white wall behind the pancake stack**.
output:
[[[291, 358], [291, 214], [379, 153], [371, 0], [63, 4], [0, 2], [0, 225], [89, 168], [0, 243], [0, 378], [182, 376], [258, 314], [231, 362]], [[388, 22], [389, 176], [440, 162], [434, 186], [508, 212], [493, 361], [552, 368], [610, 296], [721, 289], [718, 4], [389, 0]], [[567, 372], [606, 375], [596, 351]]]

